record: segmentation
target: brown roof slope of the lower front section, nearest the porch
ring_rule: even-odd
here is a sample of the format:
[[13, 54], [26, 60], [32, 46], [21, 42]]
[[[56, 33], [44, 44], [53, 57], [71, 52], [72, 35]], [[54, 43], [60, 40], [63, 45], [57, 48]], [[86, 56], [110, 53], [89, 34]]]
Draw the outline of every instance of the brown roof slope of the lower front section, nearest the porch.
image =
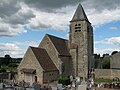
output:
[[30, 48], [45, 71], [58, 70], [45, 49], [36, 47]]

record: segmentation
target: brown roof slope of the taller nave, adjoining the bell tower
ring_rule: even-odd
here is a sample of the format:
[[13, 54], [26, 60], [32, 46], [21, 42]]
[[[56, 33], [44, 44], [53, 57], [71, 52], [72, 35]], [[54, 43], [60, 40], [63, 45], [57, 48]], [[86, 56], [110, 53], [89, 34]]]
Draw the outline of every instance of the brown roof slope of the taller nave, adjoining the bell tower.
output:
[[68, 40], [47, 34], [60, 55], [70, 56]]

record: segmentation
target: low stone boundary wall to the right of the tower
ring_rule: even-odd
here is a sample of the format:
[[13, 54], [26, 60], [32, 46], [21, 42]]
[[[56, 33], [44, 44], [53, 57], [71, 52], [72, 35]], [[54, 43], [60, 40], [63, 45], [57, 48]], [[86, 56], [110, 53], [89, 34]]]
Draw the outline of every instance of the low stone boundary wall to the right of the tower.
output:
[[96, 78], [108, 78], [113, 79], [115, 77], [120, 78], [120, 70], [117, 69], [95, 69]]

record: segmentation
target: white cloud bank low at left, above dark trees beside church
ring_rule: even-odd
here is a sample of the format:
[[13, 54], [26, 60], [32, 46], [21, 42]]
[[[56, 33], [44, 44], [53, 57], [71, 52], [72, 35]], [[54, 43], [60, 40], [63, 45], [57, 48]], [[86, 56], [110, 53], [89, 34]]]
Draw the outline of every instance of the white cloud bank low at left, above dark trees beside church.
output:
[[[24, 46], [24, 48], [22, 48]], [[3, 57], [6, 54], [9, 54], [11, 57], [23, 57], [28, 46], [37, 47], [38, 42], [35, 41], [26, 41], [26, 42], [9, 42], [9, 43], [0, 43], [0, 56]]]

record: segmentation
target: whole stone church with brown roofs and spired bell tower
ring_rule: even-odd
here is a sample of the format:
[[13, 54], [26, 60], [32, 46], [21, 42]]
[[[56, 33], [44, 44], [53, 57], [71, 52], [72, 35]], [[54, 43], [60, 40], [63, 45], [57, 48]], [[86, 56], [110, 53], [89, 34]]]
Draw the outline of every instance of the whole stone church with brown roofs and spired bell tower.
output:
[[38, 47], [26, 51], [17, 79], [47, 83], [61, 75], [87, 78], [93, 65], [93, 28], [79, 4], [70, 21], [69, 40], [46, 34]]

